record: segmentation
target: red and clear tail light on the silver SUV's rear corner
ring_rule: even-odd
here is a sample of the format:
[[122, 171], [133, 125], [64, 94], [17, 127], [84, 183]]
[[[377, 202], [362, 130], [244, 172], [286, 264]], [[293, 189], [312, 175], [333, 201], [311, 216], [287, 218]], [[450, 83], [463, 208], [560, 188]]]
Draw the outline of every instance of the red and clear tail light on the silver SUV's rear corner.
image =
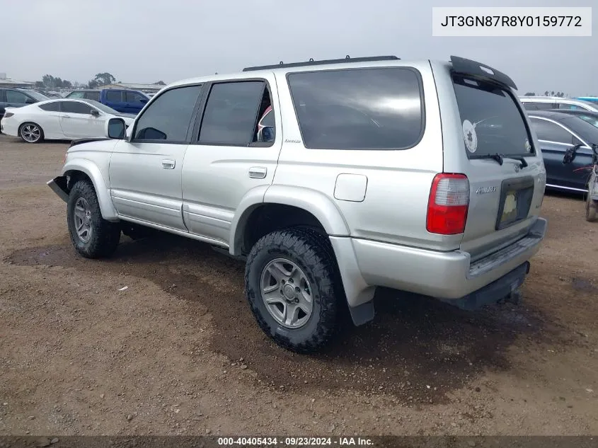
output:
[[427, 202], [426, 229], [432, 234], [465, 231], [469, 207], [469, 180], [464, 174], [439, 173], [432, 180]]

